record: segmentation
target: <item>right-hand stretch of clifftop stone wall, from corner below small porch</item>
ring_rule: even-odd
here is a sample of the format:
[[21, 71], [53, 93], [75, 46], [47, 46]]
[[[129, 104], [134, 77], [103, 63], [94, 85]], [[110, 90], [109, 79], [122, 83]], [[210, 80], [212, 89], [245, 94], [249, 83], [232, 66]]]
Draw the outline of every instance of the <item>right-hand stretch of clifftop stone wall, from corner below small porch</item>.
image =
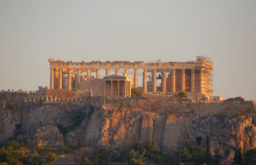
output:
[[105, 97], [106, 109], [149, 111], [156, 113], [196, 113], [198, 115], [251, 114], [256, 112], [254, 101], [229, 99], [223, 103], [197, 103], [192, 99], [140, 99]]

